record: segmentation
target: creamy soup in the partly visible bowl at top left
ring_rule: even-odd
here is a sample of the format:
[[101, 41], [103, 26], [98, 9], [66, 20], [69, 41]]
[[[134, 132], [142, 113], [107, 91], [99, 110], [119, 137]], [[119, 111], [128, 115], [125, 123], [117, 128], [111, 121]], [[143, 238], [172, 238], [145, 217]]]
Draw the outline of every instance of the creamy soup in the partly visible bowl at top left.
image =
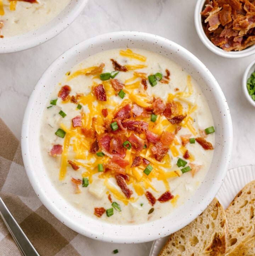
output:
[[56, 17], [70, 0], [0, 0], [0, 37], [33, 31]]

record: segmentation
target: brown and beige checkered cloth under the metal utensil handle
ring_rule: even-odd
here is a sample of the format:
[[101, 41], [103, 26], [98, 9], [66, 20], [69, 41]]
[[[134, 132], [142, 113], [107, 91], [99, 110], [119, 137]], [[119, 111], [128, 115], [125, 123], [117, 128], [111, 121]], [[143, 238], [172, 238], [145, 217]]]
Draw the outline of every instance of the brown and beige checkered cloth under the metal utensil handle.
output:
[[[21, 145], [0, 119], [0, 196], [40, 255], [94, 255], [91, 240], [58, 221], [36, 196]], [[21, 255], [0, 217], [0, 255]]]

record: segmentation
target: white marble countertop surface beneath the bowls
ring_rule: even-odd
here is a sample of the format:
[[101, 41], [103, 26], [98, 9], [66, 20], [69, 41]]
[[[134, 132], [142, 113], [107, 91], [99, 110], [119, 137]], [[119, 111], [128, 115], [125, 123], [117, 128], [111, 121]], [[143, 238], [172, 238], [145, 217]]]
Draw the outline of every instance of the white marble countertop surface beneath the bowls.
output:
[[[0, 117], [20, 138], [29, 96], [41, 74], [63, 51], [98, 34], [148, 32], [175, 41], [209, 68], [226, 96], [232, 116], [234, 141], [229, 168], [254, 164], [255, 108], [243, 95], [242, 76], [255, 55], [227, 59], [209, 51], [196, 33], [195, 5], [196, 0], [90, 0], [81, 15], [55, 38], [29, 50], [0, 55]], [[100, 243], [101, 255], [108, 255], [101, 242], [93, 243]], [[151, 245], [118, 245], [126, 251], [118, 255], [149, 255]]]

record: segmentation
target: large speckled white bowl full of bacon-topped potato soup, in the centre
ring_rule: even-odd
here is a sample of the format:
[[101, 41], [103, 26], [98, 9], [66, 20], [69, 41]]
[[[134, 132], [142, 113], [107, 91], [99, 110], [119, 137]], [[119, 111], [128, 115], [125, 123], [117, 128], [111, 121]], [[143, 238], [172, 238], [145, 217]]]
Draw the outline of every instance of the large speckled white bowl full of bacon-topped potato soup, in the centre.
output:
[[225, 178], [226, 99], [189, 51], [114, 32], [64, 52], [30, 96], [22, 155], [39, 199], [93, 239], [142, 243], [196, 218]]

